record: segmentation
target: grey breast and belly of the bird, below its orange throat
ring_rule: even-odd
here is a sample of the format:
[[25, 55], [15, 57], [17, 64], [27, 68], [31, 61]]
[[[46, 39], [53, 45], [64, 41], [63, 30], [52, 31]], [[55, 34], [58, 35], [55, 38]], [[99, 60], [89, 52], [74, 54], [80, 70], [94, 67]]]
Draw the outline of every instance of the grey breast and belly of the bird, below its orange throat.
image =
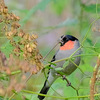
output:
[[[77, 48], [78, 49], [78, 48]], [[72, 50], [59, 50], [58, 53], [56, 54], [56, 60], [60, 60], [60, 59], [64, 59], [64, 58], [68, 58], [70, 57], [76, 50], [76, 48], [72, 49]], [[80, 55], [81, 50], [78, 50], [73, 56], [76, 55]], [[80, 57], [76, 57], [74, 60], [72, 60], [77, 66], [80, 63]], [[63, 64], [65, 63], [64, 61], [60, 61], [56, 63], [56, 66], [53, 66], [54, 68], [59, 68], [59, 67], [63, 67]], [[63, 70], [61, 70], [62, 72], [64, 72], [65, 74], [69, 75], [71, 74], [76, 68], [77, 66], [72, 63], [70, 60], [68, 60], [68, 64], [66, 65], [66, 67], [64, 67]]]

